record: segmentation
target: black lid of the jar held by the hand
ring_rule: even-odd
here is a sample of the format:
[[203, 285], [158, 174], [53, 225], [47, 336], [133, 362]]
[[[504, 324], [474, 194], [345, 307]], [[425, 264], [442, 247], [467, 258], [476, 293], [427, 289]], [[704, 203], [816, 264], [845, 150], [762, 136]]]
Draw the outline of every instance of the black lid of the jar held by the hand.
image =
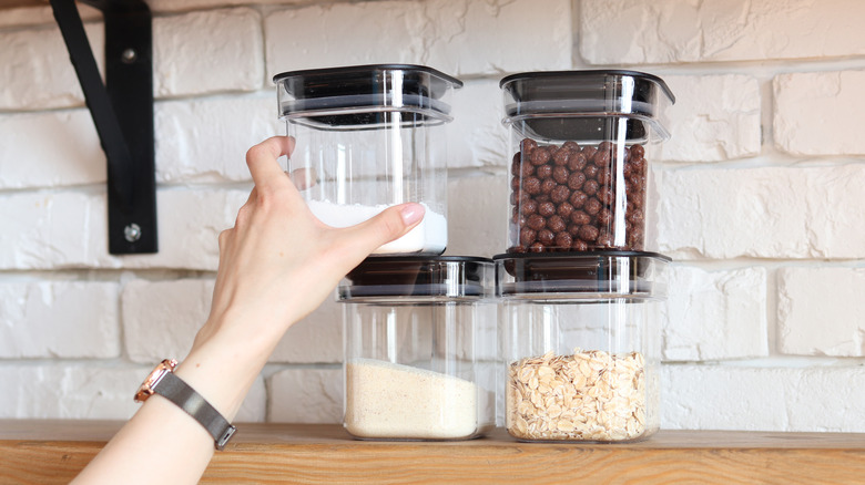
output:
[[[398, 76], [396, 74], [399, 74]], [[396, 79], [400, 82], [395, 82]], [[320, 127], [379, 125], [388, 113], [415, 113], [419, 121], [449, 120], [450, 106], [440, 99], [462, 82], [415, 64], [367, 64], [289, 71], [273, 78], [279, 115], [309, 118]]]

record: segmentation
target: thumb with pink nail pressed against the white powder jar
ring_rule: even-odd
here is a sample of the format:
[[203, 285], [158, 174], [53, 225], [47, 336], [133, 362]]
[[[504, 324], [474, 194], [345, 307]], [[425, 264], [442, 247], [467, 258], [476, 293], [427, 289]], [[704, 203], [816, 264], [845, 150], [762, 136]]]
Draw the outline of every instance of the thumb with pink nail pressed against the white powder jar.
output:
[[379, 246], [411, 230], [424, 218], [425, 211], [424, 206], [417, 203], [400, 204], [345, 230], [353, 246], [366, 251], [366, 257]]

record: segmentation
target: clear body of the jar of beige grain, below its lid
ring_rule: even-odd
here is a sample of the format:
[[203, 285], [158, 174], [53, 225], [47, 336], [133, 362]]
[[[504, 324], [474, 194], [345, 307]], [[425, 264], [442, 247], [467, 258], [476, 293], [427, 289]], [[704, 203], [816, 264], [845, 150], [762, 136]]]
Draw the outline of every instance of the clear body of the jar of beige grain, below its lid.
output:
[[495, 425], [495, 305], [346, 303], [344, 321], [353, 436], [466, 440]]

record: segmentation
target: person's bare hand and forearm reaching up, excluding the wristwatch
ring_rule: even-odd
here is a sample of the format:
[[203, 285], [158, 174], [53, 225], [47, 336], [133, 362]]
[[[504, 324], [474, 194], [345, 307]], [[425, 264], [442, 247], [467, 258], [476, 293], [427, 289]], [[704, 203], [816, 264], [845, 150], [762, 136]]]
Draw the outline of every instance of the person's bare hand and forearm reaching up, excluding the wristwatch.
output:
[[[423, 206], [403, 204], [354, 227], [324, 225], [276, 162], [292, 148], [292, 138], [277, 136], [246, 154], [255, 188], [234, 228], [220, 235], [211, 314], [175, 371], [228, 421], [288, 327], [374, 249], [424, 217]], [[74, 482], [194, 484], [212, 455], [204, 427], [156, 394]]]

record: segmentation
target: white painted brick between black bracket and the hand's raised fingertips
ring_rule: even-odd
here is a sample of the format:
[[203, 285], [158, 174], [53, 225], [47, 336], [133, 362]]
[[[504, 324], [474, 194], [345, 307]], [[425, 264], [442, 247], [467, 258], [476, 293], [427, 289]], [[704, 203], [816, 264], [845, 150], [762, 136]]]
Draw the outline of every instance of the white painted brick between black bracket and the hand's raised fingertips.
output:
[[276, 95], [156, 103], [157, 182], [251, 180], [246, 151], [285, 134]]

